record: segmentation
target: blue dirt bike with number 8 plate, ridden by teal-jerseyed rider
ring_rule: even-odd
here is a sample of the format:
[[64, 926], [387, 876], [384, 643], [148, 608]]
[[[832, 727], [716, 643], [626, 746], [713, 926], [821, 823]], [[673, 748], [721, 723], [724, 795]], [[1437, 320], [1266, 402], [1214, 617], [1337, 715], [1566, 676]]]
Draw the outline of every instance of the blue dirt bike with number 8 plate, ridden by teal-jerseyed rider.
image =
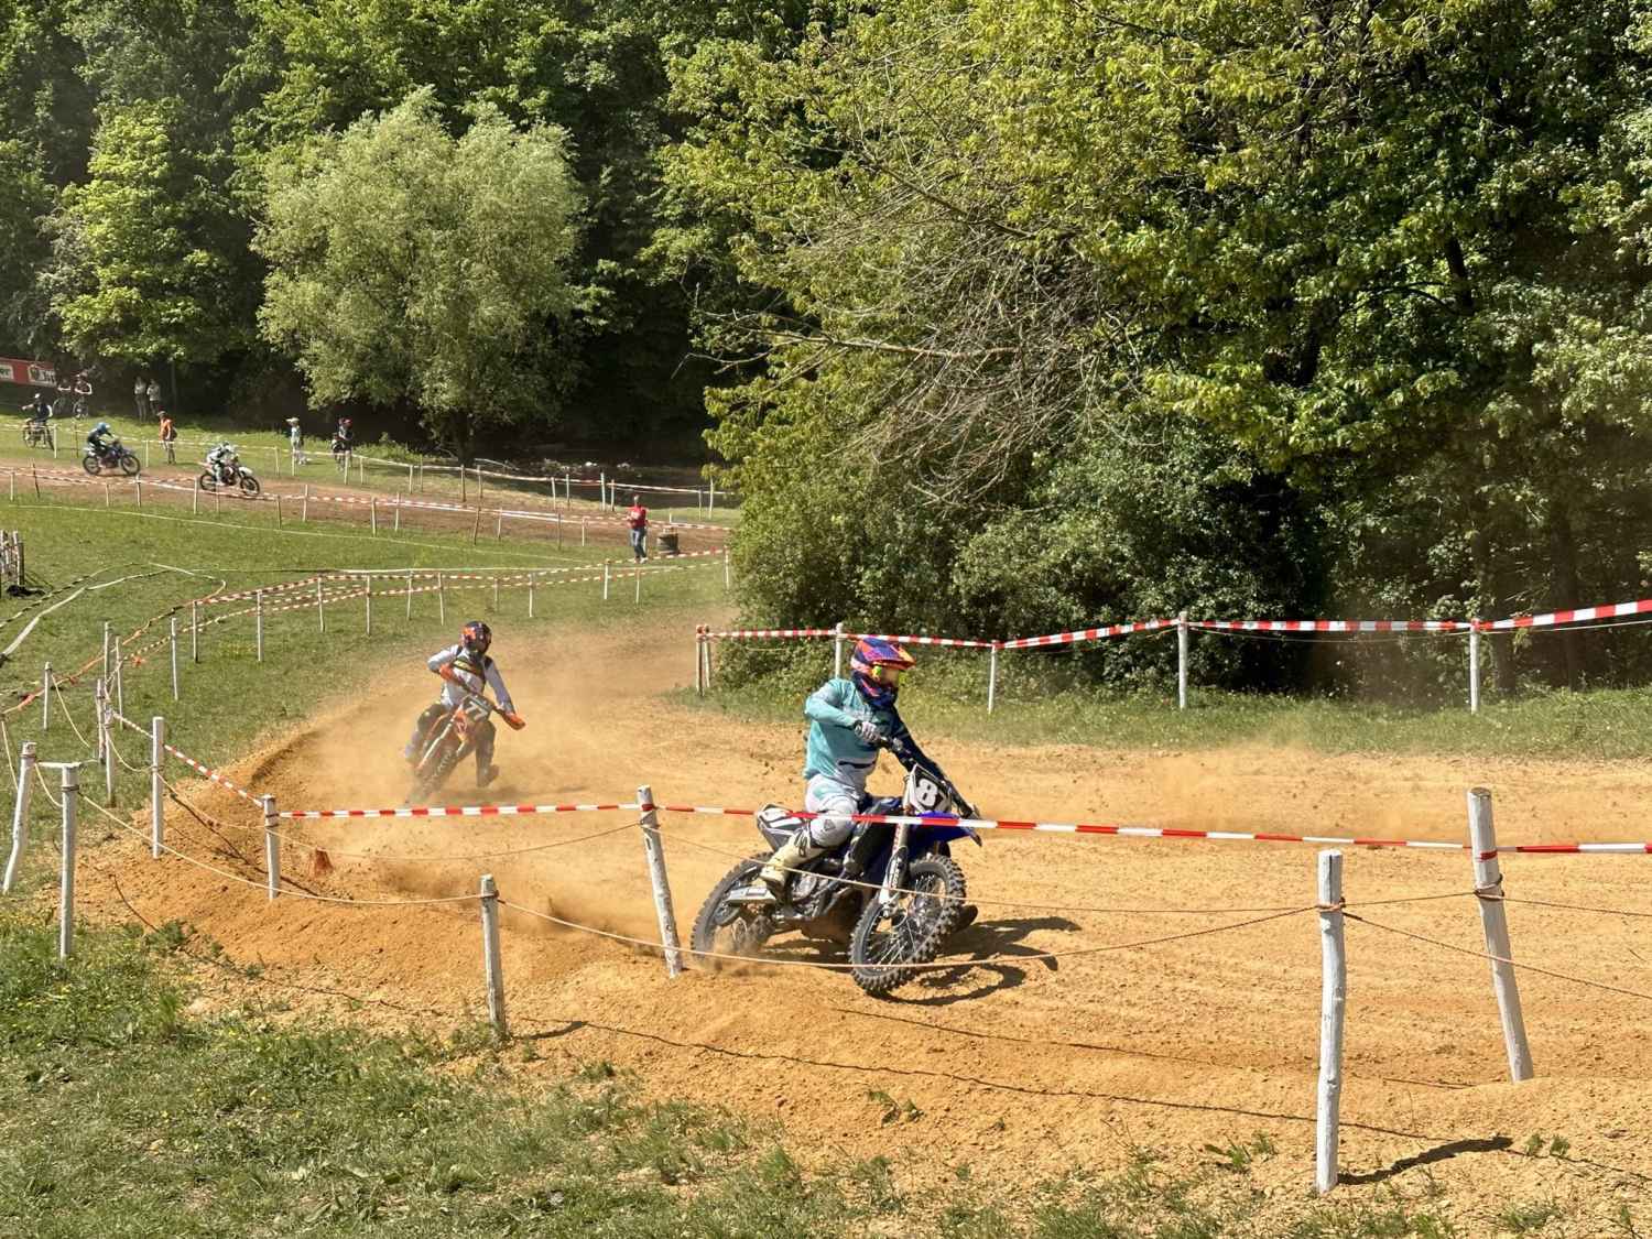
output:
[[[907, 771], [900, 796], [869, 798], [861, 811], [935, 823], [856, 821], [847, 841], [790, 874], [780, 897], [758, 879], [770, 852], [742, 861], [705, 897], [694, 920], [694, 950], [757, 955], [773, 935], [798, 930], [806, 938], [846, 943], [854, 981], [869, 995], [887, 995], [914, 980], [917, 968], [897, 965], [928, 963], [975, 919], [952, 843], [981, 843], [958, 821], [976, 811], [945, 775], [923, 763]], [[771, 849], [803, 824], [780, 805], [757, 814], [757, 829]]]

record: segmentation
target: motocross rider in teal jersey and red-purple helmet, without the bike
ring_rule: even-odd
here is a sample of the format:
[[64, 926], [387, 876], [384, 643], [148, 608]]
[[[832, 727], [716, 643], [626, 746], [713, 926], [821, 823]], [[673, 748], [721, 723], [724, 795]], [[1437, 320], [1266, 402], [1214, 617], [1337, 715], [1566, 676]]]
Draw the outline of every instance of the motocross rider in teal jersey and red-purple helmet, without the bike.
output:
[[[895, 643], [861, 638], [849, 656], [849, 679], [826, 681], [803, 704], [809, 720], [803, 808], [821, 816], [783, 843], [758, 874], [776, 899], [785, 895], [788, 871], [838, 847], [854, 831], [881, 745], [894, 740], [894, 753], [907, 770], [922, 763], [940, 771], [895, 710], [900, 676], [914, 666], [915, 659]], [[970, 920], [973, 907], [965, 910], [965, 923]]]

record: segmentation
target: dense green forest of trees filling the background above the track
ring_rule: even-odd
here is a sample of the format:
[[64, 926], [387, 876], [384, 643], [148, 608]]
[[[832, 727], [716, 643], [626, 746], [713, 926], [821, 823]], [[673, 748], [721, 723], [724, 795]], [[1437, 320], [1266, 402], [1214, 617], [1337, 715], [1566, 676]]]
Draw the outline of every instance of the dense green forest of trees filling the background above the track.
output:
[[[0, 0], [0, 355], [709, 444], [762, 621], [1635, 598], [1649, 53], [1645, 0]], [[1644, 682], [1642, 633], [1495, 682]]]

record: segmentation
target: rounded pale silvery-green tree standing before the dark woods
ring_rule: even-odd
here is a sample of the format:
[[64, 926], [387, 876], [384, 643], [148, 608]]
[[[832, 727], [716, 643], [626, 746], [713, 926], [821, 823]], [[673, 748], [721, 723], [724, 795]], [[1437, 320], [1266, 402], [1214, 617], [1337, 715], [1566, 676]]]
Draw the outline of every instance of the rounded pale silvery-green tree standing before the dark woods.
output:
[[317, 405], [413, 405], [466, 461], [479, 426], [545, 408], [580, 208], [560, 129], [481, 106], [453, 139], [416, 91], [276, 160], [268, 185], [259, 325]]

